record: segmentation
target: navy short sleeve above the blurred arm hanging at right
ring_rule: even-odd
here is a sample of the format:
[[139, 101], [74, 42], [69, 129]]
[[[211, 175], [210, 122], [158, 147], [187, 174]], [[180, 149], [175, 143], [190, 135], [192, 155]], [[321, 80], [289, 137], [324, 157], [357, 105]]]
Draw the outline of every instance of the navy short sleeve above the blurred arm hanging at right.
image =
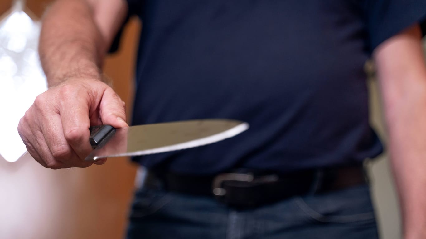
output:
[[419, 23], [426, 34], [426, 0], [366, 0], [370, 52], [389, 37]]

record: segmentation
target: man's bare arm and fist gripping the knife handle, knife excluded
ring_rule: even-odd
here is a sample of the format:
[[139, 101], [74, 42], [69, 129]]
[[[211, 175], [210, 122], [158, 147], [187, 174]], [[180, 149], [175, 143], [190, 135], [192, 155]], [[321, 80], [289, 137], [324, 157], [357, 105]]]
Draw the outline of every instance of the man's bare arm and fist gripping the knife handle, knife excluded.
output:
[[26, 111], [18, 132], [46, 168], [91, 165], [84, 162], [92, 150], [89, 126], [127, 126], [124, 102], [100, 71], [126, 13], [125, 0], [58, 0], [43, 17], [39, 51], [49, 89]]

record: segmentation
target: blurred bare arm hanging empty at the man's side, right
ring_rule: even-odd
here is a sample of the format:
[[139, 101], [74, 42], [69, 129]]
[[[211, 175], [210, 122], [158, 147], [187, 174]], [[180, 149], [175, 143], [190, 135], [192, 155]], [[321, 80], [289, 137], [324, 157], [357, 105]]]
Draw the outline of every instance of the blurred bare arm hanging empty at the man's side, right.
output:
[[418, 24], [373, 52], [380, 79], [389, 151], [404, 237], [426, 238], [426, 64]]

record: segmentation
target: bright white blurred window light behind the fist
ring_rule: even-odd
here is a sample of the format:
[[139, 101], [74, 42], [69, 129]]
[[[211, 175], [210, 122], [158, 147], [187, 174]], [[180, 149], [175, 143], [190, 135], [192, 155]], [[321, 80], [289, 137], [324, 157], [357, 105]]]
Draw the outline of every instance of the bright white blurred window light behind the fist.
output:
[[22, 8], [0, 21], [0, 158], [15, 162], [26, 153], [17, 126], [35, 97], [46, 91], [37, 53], [40, 23]]

